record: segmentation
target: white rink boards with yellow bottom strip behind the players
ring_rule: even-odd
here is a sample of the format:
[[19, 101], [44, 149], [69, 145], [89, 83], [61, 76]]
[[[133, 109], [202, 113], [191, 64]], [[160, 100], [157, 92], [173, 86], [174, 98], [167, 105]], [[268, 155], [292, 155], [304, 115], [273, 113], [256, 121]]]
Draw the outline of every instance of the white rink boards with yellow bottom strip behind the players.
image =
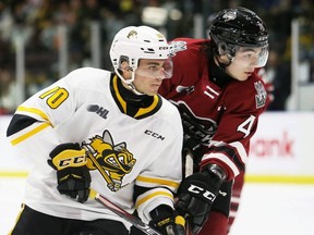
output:
[[[0, 116], [0, 177], [25, 177], [28, 165], [5, 138], [11, 116]], [[314, 113], [266, 112], [251, 141], [247, 182], [314, 184]]]

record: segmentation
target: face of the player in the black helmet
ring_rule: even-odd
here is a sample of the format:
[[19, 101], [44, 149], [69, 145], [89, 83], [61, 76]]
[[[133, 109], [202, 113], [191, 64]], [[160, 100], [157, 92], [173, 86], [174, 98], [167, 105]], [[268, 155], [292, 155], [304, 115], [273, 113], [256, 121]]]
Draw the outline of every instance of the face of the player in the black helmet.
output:
[[255, 67], [258, 66], [261, 59], [261, 48], [240, 48], [233, 61], [226, 67], [227, 73], [238, 81], [246, 81]]

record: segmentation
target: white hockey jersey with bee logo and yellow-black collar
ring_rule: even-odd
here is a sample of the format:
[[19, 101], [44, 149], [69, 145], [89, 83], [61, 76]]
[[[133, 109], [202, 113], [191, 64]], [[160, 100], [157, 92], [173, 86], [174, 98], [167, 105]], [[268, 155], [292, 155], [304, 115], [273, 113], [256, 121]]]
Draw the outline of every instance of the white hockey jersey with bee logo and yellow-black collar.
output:
[[[80, 143], [96, 158], [104, 158], [107, 180], [90, 169], [92, 187], [130, 213], [136, 207], [140, 218], [148, 222], [152, 209], [161, 203], [173, 207], [172, 191], [181, 182], [180, 114], [156, 95], [149, 107], [141, 108], [134, 116], [126, 115], [118, 79], [108, 71], [78, 69], [17, 108], [15, 114], [36, 120], [9, 136], [21, 158], [34, 165], [26, 181], [24, 203], [28, 207], [60, 218], [111, 219], [128, 226], [92, 199], [80, 203], [59, 194], [57, 173], [47, 160], [63, 143]], [[152, 188], [137, 197], [135, 205], [134, 184]]]

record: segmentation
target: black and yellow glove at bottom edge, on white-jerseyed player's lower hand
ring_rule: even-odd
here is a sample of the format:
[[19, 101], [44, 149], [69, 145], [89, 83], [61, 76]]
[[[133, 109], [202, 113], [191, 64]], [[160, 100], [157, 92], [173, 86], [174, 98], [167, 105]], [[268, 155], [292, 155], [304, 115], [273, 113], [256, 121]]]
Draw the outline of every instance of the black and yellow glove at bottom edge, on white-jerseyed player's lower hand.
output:
[[185, 220], [178, 215], [172, 208], [159, 206], [150, 212], [152, 221], [149, 225], [165, 235], [184, 235]]

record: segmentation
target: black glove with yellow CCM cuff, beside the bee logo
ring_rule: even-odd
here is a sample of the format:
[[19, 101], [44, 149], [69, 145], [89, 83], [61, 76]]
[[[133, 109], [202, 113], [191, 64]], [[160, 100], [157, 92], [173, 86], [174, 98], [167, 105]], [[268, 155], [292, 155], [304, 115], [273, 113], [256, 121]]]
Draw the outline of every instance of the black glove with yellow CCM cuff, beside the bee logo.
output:
[[57, 146], [49, 156], [48, 164], [57, 170], [59, 193], [85, 202], [90, 186], [85, 150], [77, 143], [67, 143]]

